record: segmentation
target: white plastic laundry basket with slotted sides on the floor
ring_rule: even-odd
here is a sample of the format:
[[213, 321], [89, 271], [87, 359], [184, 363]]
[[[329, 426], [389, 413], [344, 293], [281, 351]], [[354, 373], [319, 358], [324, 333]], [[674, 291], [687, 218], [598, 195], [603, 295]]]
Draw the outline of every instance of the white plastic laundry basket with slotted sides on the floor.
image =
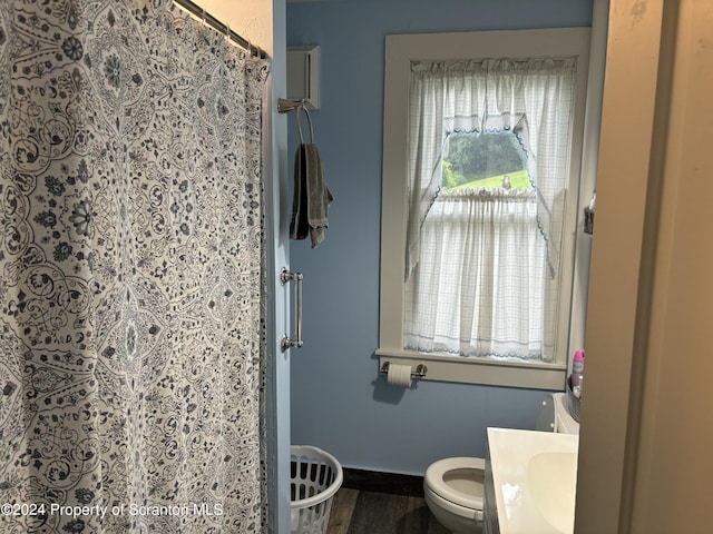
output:
[[342, 485], [342, 466], [331, 454], [310, 445], [293, 445], [290, 453], [292, 534], [324, 534], [334, 494]]

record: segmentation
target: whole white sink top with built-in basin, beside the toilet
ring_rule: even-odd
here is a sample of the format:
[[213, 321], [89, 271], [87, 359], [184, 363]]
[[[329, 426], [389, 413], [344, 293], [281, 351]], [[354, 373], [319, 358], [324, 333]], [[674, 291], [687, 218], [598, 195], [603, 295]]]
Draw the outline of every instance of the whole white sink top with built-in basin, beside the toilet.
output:
[[500, 534], [573, 533], [578, 446], [576, 434], [488, 428], [486, 510]]

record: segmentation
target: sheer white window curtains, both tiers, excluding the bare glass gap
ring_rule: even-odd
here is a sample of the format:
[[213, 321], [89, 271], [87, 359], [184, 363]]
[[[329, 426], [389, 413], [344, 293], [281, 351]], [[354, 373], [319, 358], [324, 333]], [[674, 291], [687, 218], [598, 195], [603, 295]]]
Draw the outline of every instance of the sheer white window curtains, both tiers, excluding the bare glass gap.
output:
[[[414, 63], [404, 348], [550, 360], [576, 59]], [[442, 192], [452, 132], [516, 136], [533, 189]]]

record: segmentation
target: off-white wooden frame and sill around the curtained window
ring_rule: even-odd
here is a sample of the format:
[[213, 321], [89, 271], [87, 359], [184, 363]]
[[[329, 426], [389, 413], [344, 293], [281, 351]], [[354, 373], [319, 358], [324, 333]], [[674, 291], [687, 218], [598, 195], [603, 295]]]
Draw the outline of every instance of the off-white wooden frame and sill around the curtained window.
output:
[[[426, 379], [512, 387], [561, 389], [568, 354], [584, 342], [586, 301], [575, 297], [578, 260], [575, 244], [580, 231], [582, 198], [594, 190], [594, 176], [582, 177], [582, 154], [587, 95], [589, 28], [506, 30], [459, 33], [387, 36], [381, 207], [380, 368], [383, 364], [424, 364]], [[563, 235], [561, 295], [557, 348], [553, 363], [499, 362], [488, 358], [432, 355], [403, 349], [403, 278], [408, 221], [409, 86], [412, 61], [487, 58], [578, 57], [575, 80], [575, 116], [570, 156], [570, 182]], [[578, 278], [578, 277], [577, 277]], [[586, 300], [586, 298], [584, 299]]]

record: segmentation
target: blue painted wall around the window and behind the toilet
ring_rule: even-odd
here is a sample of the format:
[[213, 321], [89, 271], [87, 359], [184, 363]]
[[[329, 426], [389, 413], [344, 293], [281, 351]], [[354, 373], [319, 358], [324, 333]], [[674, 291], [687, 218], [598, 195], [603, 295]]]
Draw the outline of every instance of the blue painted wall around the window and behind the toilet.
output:
[[321, 109], [312, 118], [335, 197], [322, 245], [291, 244], [292, 269], [305, 276], [305, 344], [292, 350], [293, 444], [320, 446], [345, 467], [422, 475], [442, 457], [482, 457], [488, 426], [534, 427], [543, 392], [428, 380], [407, 390], [379, 374], [384, 36], [590, 22], [592, 0], [287, 4], [287, 44], [321, 46]]

